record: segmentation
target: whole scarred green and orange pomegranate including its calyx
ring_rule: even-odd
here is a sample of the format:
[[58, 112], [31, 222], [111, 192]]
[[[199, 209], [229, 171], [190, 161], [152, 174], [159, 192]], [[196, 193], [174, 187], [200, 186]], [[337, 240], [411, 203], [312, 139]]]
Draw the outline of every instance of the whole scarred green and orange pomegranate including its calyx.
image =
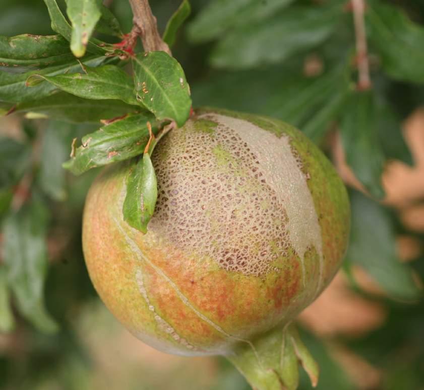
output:
[[168, 353], [226, 355], [250, 383], [295, 388], [315, 363], [291, 321], [346, 250], [349, 203], [324, 154], [278, 120], [198, 110], [152, 154], [146, 235], [123, 219], [134, 164], [106, 168], [84, 212], [96, 290], [136, 337]]

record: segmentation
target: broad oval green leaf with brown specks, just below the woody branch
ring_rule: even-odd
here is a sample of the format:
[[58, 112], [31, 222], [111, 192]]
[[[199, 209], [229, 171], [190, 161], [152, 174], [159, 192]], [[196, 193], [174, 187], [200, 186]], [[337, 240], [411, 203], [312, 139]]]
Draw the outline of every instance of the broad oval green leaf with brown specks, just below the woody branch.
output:
[[174, 120], [183, 126], [190, 115], [190, 87], [181, 65], [163, 51], [133, 58], [137, 100], [158, 120]]

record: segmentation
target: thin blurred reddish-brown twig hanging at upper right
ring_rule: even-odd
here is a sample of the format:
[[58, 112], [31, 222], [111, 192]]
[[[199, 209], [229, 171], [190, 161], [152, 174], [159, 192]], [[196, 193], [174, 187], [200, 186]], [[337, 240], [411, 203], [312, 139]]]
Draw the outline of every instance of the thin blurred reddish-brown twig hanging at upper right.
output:
[[358, 66], [359, 90], [368, 90], [371, 87], [370, 64], [368, 62], [367, 34], [365, 31], [365, 0], [351, 0], [353, 23], [356, 36], [356, 61]]

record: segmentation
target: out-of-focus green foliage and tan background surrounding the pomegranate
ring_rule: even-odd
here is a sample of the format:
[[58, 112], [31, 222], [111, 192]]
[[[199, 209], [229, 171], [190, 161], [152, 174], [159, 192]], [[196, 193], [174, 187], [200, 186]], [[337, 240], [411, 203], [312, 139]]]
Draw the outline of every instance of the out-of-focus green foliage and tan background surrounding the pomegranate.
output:
[[[151, 3], [163, 31], [178, 4]], [[127, 0], [105, 4], [129, 32]], [[424, 2], [367, 1], [366, 91], [356, 88], [347, 1], [191, 4], [173, 54], [194, 105], [298, 126], [349, 186], [343, 271], [299, 319], [320, 363], [318, 388], [424, 389]], [[0, 35], [52, 33], [41, 0], [0, 0], [0, 9]], [[9, 108], [0, 102], [0, 112]], [[61, 167], [72, 139], [95, 128], [0, 118], [0, 388], [248, 389], [224, 359], [169, 356], [136, 341], [99, 301], [80, 239], [98, 171], [76, 178]]]

